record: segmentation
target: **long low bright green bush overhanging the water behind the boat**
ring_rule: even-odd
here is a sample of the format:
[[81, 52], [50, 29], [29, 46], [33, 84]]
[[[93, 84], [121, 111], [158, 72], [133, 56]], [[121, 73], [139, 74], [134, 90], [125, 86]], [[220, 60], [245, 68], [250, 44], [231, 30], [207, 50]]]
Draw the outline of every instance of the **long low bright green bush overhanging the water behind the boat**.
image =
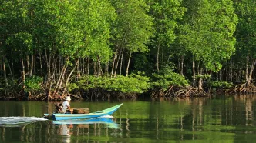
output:
[[102, 88], [106, 91], [120, 91], [123, 93], [143, 93], [150, 88], [149, 82], [150, 78], [138, 74], [131, 74], [126, 77], [123, 75], [118, 75], [116, 78], [106, 78], [106, 77], [95, 77], [93, 75], [82, 77], [76, 84], [69, 85], [69, 91], [77, 88], [83, 88], [84, 90]]

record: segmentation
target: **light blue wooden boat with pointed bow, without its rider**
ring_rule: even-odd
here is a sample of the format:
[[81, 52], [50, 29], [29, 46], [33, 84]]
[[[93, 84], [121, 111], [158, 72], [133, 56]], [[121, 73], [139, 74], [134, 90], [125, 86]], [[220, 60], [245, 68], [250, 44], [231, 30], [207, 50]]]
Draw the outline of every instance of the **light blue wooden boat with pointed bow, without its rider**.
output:
[[60, 114], [60, 113], [54, 113], [52, 115], [45, 114], [45, 118], [52, 119], [52, 120], [73, 120], [73, 119], [86, 119], [86, 118], [98, 118], [105, 115], [112, 115], [113, 112], [115, 112], [118, 108], [120, 108], [123, 105], [116, 105], [111, 108], [106, 108], [102, 111], [96, 111], [89, 114]]

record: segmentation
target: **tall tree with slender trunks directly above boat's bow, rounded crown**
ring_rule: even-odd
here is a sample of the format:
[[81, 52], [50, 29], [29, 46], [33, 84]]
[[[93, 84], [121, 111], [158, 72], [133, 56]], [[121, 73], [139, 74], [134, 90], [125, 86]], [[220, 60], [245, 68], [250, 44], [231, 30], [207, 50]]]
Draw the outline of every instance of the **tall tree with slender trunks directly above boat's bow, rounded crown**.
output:
[[[144, 0], [112, 1], [116, 8], [117, 18], [113, 25], [113, 44], [116, 50], [113, 60], [115, 75], [118, 64], [120, 71], [123, 64], [124, 52], [126, 62], [126, 76], [129, 72], [130, 58], [133, 52], [147, 52], [147, 42], [152, 33], [153, 18], [147, 15], [148, 6]], [[113, 73], [113, 71], [112, 71]]]

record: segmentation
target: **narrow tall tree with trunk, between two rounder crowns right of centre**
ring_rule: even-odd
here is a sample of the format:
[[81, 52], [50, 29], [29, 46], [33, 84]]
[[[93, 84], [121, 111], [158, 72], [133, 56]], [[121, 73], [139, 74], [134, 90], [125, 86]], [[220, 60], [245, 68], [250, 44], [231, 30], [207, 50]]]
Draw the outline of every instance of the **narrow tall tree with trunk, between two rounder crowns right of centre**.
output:
[[[175, 29], [177, 28], [177, 20], [184, 16], [185, 8], [181, 6], [180, 0], [167, 0], [156, 1], [148, 0], [150, 5], [150, 15], [153, 17], [154, 37], [152, 38], [151, 45], [157, 49], [156, 61], [157, 72], [160, 71], [160, 55], [162, 60], [168, 59], [170, 55], [170, 44], [176, 38]], [[160, 54], [160, 49], [162, 52]], [[154, 53], [155, 50], [153, 50]], [[167, 60], [165, 61], [167, 62]], [[165, 65], [166, 63], [163, 63]]]

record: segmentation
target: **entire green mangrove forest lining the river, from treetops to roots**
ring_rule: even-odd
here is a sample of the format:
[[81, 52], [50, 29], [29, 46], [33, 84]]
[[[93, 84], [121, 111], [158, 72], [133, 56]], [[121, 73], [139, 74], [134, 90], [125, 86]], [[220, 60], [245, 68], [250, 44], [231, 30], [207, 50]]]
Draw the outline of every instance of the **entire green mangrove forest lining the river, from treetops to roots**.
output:
[[0, 99], [256, 91], [254, 0], [0, 0]]

